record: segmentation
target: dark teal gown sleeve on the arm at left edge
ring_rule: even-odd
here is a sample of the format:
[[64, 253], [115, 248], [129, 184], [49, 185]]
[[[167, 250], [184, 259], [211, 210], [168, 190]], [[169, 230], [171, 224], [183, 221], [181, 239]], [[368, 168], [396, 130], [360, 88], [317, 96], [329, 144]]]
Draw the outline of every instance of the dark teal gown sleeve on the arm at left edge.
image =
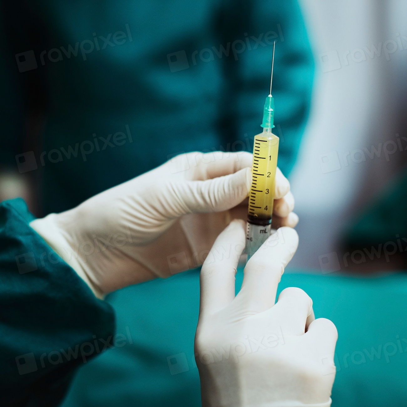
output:
[[74, 370], [115, 339], [112, 306], [30, 228], [33, 219], [22, 199], [0, 204], [2, 406], [58, 405]]

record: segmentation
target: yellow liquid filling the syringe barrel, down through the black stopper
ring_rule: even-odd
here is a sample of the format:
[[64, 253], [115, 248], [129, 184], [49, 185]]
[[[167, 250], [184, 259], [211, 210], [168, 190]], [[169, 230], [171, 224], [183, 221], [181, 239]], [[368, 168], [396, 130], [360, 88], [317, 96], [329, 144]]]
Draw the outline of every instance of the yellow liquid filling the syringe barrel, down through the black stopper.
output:
[[269, 225], [273, 213], [279, 138], [269, 131], [254, 136], [252, 186], [249, 193], [248, 221]]

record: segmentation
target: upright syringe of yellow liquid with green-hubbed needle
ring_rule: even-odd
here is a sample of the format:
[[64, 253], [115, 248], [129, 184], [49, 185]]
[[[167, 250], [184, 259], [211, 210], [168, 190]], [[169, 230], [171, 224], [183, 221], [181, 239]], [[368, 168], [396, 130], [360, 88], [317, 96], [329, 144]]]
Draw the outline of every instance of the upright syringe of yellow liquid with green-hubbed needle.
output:
[[270, 94], [263, 112], [263, 133], [254, 136], [252, 186], [249, 192], [247, 214], [246, 252], [252, 256], [267, 240], [271, 231], [274, 188], [277, 168], [279, 138], [271, 133], [274, 127], [274, 99], [271, 96], [273, 82], [274, 48], [271, 61]]

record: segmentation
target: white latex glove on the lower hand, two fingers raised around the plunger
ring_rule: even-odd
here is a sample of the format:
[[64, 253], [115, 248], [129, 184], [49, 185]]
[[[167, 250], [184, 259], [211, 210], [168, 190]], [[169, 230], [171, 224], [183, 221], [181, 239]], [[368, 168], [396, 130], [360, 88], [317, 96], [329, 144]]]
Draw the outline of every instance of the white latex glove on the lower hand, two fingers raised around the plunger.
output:
[[337, 330], [315, 319], [312, 300], [299, 288], [276, 291], [298, 245], [291, 228], [258, 249], [235, 293], [245, 247], [244, 222], [219, 235], [201, 269], [195, 359], [203, 407], [330, 406]]

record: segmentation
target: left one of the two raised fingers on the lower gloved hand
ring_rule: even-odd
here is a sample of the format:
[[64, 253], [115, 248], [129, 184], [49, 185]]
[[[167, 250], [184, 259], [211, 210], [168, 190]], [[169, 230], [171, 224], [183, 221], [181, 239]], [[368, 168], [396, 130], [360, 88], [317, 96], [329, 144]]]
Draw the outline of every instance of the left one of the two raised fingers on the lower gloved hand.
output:
[[241, 220], [232, 221], [217, 237], [201, 268], [199, 317], [223, 309], [234, 299], [234, 276], [245, 243]]

